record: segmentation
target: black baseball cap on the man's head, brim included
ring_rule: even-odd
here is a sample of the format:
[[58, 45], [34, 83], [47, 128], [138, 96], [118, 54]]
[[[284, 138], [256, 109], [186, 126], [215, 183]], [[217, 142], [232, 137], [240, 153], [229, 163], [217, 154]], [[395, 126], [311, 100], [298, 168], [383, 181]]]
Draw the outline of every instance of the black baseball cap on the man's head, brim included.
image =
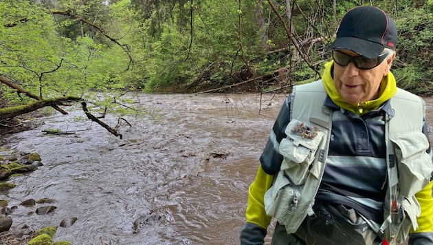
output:
[[386, 12], [373, 6], [349, 10], [337, 30], [330, 50], [351, 50], [366, 58], [376, 58], [385, 47], [395, 50], [397, 27]]

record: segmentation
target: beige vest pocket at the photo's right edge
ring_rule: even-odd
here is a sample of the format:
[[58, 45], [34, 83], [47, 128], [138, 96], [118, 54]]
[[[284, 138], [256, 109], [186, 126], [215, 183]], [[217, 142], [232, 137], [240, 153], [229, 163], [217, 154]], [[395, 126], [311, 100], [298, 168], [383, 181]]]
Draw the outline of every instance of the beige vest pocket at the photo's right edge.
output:
[[399, 193], [405, 197], [415, 195], [430, 182], [432, 176], [432, 158], [426, 152], [429, 142], [421, 131], [403, 134], [390, 140], [395, 144]]

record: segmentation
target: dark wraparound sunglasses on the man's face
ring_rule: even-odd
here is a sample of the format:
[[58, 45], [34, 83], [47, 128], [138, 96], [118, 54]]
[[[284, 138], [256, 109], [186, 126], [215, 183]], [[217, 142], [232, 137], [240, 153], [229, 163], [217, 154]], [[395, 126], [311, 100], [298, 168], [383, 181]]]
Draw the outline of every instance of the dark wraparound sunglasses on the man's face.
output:
[[353, 62], [355, 67], [361, 70], [368, 70], [377, 67], [377, 65], [380, 65], [380, 63], [382, 63], [387, 56], [388, 52], [379, 55], [377, 58], [366, 58], [364, 56], [353, 57], [338, 50], [332, 51], [332, 58], [338, 65], [346, 66], [348, 63]]

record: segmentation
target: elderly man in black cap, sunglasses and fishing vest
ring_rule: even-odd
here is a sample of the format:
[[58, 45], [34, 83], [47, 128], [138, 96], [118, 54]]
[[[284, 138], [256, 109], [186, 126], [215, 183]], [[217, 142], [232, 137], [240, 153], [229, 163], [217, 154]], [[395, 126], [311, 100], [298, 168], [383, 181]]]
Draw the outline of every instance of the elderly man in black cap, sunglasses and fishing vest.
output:
[[433, 244], [425, 104], [390, 72], [397, 28], [346, 13], [322, 80], [293, 87], [249, 187], [241, 244]]

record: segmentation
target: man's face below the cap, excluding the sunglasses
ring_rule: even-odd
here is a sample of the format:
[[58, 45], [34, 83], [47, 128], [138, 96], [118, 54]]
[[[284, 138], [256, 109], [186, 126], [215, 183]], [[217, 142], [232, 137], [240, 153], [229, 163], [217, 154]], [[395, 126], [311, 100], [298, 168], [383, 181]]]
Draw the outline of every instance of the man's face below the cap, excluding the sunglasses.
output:
[[[349, 56], [359, 56], [350, 50], [338, 50]], [[386, 58], [377, 67], [361, 70], [353, 62], [346, 66], [334, 62], [334, 83], [337, 92], [347, 103], [358, 105], [379, 97], [379, 87], [382, 78], [388, 74], [395, 54]]]

